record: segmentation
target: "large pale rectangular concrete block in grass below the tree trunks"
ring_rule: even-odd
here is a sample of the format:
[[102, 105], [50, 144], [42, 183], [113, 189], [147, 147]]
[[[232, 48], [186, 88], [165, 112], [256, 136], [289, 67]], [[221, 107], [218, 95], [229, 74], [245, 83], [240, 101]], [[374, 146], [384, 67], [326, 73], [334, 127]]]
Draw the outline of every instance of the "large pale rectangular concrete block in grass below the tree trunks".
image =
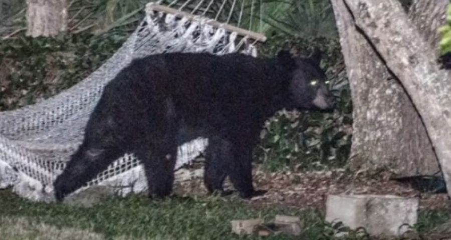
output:
[[418, 199], [392, 195], [329, 195], [326, 221], [351, 229], [364, 227], [372, 236], [400, 236], [417, 222]]

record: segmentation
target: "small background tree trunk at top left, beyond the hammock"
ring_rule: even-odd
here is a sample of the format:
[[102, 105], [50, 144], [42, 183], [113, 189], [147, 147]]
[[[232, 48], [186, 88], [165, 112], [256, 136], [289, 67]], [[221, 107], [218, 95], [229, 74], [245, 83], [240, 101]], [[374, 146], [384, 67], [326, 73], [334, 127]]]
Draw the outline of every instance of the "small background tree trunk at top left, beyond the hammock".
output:
[[55, 36], [66, 25], [66, 0], [27, 0], [27, 35]]

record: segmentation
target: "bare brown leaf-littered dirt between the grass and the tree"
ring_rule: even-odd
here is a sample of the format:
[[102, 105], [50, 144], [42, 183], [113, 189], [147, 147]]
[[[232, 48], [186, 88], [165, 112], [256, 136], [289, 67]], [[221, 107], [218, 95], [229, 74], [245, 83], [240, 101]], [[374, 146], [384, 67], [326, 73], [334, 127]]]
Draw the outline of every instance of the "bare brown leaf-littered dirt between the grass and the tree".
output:
[[[176, 194], [206, 194], [202, 174], [199, 170], [196, 177], [176, 185]], [[225, 185], [232, 189], [230, 182], [226, 181]], [[343, 170], [296, 173], [265, 173], [257, 170], [254, 173], [254, 185], [257, 189], [267, 190], [267, 193], [249, 200], [253, 205], [283, 205], [298, 209], [314, 207], [324, 211], [329, 194], [418, 197], [420, 209], [449, 208], [451, 205], [446, 193], [422, 193], [410, 184], [391, 180], [391, 174], [387, 172], [356, 177]]]

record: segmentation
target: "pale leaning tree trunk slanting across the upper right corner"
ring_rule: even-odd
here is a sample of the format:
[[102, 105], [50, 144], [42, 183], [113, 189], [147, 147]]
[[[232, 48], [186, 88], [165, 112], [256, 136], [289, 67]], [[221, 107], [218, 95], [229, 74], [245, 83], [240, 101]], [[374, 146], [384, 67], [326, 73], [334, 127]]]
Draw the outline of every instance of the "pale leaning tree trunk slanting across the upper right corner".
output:
[[451, 194], [451, 84], [397, 0], [344, 0], [355, 23], [401, 81], [423, 119]]

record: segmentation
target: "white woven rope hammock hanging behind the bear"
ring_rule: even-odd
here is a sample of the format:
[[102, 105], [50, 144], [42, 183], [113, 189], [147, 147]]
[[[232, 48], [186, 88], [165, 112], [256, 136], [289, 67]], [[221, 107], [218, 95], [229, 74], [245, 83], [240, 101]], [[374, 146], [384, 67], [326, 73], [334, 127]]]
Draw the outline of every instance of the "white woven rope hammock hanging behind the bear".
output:
[[[0, 112], [0, 189], [13, 186], [13, 191], [24, 198], [52, 201], [53, 181], [81, 144], [85, 125], [103, 87], [132, 59], [166, 52], [241, 52], [256, 56], [255, 43], [265, 41], [265, 36], [240, 28], [247, 25], [253, 29], [253, 12], [258, 12], [254, 1], [148, 3], [137, 29], [86, 79], [35, 105]], [[227, 7], [232, 9], [230, 12], [224, 12], [226, 4], [232, 4]], [[261, 10], [261, 0], [258, 5]], [[189, 164], [207, 142], [198, 138], [179, 146], [176, 169]], [[121, 189], [119, 195], [147, 189], [143, 167], [137, 158], [127, 154], [78, 191], [95, 185], [117, 187]]]

